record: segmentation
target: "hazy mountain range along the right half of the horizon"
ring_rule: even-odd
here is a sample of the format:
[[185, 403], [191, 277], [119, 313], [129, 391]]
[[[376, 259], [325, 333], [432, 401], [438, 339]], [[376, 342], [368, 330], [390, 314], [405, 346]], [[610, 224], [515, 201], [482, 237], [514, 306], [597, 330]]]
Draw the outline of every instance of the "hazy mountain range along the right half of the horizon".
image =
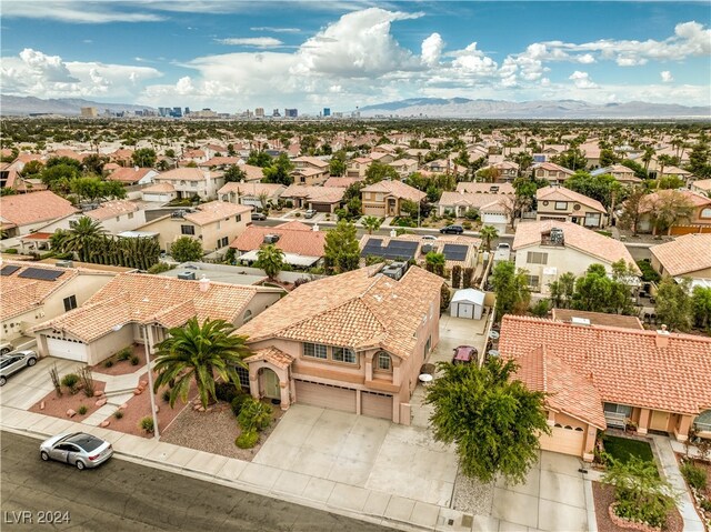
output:
[[709, 119], [711, 106], [675, 103], [589, 103], [580, 100], [470, 100], [413, 98], [360, 108], [361, 117], [429, 117], [462, 119]]

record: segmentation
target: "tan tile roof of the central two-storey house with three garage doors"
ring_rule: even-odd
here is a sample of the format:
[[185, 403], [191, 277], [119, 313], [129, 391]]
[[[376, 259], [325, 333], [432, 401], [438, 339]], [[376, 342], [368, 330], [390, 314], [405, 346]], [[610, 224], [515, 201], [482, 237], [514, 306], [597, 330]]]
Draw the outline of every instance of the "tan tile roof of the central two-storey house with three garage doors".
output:
[[[381, 264], [300, 285], [240, 328], [248, 341], [288, 339], [356, 350], [380, 347], [407, 359], [442, 279], [412, 267], [400, 281]], [[438, 309], [434, 309], [438, 312]]]

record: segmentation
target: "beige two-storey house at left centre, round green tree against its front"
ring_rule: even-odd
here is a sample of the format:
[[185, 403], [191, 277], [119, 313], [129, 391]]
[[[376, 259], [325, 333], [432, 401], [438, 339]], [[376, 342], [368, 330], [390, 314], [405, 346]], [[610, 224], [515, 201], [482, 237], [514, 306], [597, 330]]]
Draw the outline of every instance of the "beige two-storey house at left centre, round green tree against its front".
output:
[[200, 240], [206, 252], [230, 244], [251, 223], [252, 207], [211, 201], [194, 208], [173, 211], [138, 228], [141, 233], [158, 233], [160, 248], [170, 252], [171, 244], [181, 237]]

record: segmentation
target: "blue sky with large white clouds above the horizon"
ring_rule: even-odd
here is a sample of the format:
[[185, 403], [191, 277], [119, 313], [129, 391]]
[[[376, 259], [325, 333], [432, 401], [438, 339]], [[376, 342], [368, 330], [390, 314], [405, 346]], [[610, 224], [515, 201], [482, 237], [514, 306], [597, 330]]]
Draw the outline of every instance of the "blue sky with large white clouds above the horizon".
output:
[[703, 1], [0, 0], [0, 90], [349, 112], [407, 98], [711, 106]]

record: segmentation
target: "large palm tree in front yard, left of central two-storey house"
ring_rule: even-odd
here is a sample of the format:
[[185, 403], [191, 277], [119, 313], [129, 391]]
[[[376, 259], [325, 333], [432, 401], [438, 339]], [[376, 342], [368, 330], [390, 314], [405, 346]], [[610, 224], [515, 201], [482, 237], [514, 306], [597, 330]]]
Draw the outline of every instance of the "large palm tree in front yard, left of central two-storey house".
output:
[[180, 398], [188, 401], [190, 384], [194, 381], [200, 402], [207, 406], [217, 401], [214, 392], [216, 375], [224, 382], [240, 385], [237, 367], [247, 368], [243, 359], [251, 351], [244, 343], [247, 337], [232, 334], [234, 327], [224, 320], [210, 320], [200, 325], [191, 318], [184, 328], [177, 327], [168, 331], [169, 337], [156, 348], [156, 372], [153, 393], [161, 387], [174, 383], [170, 389], [170, 405]]

